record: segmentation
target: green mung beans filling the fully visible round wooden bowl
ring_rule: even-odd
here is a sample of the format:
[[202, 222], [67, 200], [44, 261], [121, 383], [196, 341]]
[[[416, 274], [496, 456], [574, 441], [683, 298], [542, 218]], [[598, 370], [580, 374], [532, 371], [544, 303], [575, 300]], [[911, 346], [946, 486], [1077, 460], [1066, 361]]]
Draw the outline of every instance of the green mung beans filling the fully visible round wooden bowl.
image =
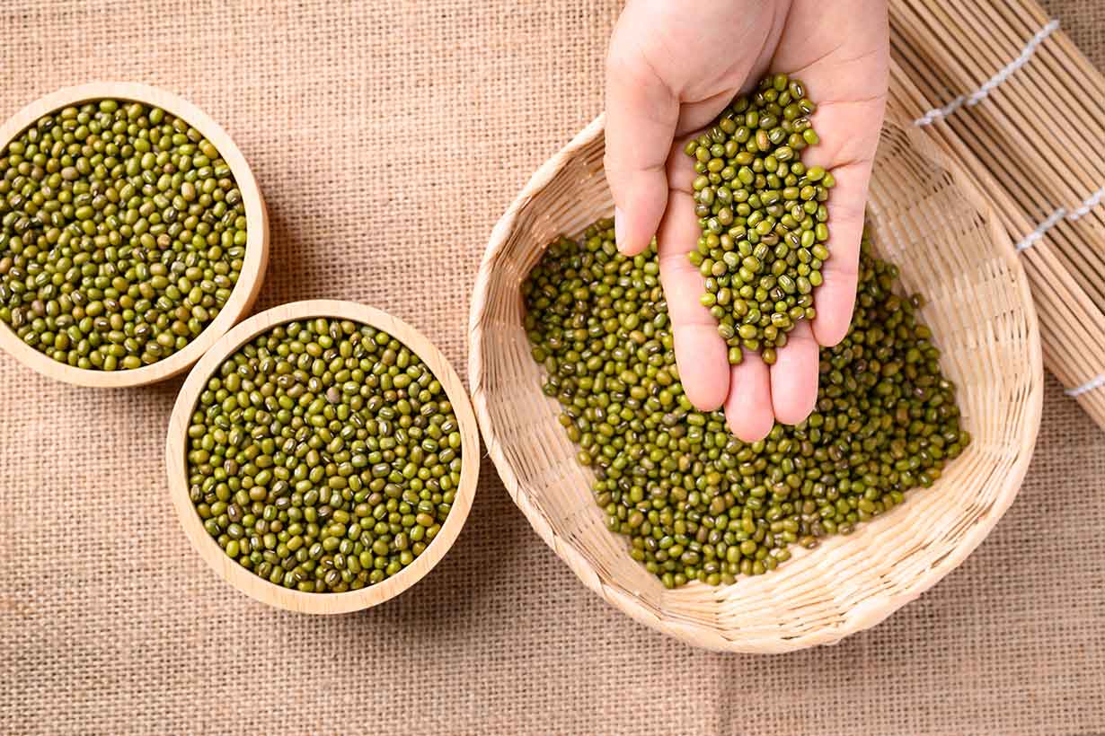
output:
[[376, 328], [272, 328], [223, 361], [188, 428], [203, 527], [256, 575], [341, 593], [400, 573], [441, 531], [461, 430], [441, 383]]

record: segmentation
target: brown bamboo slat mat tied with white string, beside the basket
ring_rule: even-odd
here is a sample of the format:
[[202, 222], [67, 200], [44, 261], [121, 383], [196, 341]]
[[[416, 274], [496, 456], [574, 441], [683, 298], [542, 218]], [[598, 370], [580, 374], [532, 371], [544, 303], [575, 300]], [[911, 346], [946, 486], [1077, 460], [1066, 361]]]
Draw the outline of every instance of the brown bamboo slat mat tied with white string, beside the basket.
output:
[[1032, 284], [1044, 362], [1105, 428], [1105, 79], [1032, 0], [891, 7], [915, 125], [990, 192]]

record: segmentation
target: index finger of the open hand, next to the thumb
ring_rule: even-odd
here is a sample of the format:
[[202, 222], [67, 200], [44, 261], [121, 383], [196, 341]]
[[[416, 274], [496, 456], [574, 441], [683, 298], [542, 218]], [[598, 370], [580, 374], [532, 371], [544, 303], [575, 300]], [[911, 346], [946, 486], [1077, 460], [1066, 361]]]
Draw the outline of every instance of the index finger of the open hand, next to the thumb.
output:
[[712, 412], [722, 405], [729, 390], [727, 348], [717, 333], [717, 320], [699, 301], [705, 292], [702, 274], [687, 259], [687, 253], [698, 242], [694, 202], [680, 190], [672, 190], [671, 200], [656, 237], [675, 362], [687, 398], [698, 409]]

